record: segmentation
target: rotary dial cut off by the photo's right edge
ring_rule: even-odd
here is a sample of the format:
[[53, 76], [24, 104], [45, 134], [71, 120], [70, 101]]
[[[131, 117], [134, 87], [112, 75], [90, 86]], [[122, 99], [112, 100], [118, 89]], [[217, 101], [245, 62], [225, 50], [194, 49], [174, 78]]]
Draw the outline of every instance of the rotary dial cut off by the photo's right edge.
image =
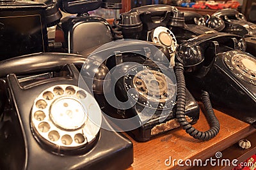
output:
[[246, 53], [231, 51], [223, 55], [223, 60], [238, 78], [256, 85], [256, 59]]

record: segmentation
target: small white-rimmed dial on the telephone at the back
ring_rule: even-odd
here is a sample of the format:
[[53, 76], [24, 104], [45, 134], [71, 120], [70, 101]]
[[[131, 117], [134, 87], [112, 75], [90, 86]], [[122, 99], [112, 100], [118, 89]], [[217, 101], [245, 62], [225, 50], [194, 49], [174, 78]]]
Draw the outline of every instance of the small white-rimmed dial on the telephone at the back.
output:
[[170, 53], [175, 52], [177, 41], [170, 29], [166, 27], [157, 27], [152, 33], [152, 41], [168, 47]]

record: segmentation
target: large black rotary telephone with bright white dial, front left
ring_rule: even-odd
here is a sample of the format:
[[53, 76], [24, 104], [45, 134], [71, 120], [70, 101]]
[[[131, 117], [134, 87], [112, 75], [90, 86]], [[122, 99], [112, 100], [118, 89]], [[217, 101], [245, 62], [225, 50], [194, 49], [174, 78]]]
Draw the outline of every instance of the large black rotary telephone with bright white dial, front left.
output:
[[111, 129], [84, 81], [78, 87], [75, 65], [85, 60], [37, 53], [0, 62], [0, 169], [125, 169], [132, 164], [131, 141], [100, 128]]

